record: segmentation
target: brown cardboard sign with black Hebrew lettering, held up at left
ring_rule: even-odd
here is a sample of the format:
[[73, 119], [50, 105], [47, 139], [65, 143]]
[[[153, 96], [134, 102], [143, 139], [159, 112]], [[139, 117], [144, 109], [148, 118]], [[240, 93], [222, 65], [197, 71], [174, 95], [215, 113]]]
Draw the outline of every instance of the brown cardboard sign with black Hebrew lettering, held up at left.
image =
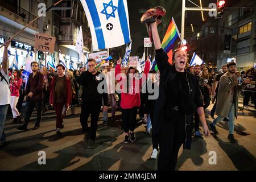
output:
[[35, 34], [34, 48], [43, 52], [53, 52], [56, 38], [46, 34]]

